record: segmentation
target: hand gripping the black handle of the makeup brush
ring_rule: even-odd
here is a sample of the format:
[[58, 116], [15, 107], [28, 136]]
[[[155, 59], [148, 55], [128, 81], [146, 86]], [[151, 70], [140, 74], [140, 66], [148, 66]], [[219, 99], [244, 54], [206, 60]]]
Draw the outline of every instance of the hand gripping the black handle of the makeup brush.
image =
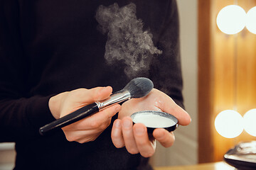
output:
[[[87, 106], [95, 101], [102, 101], [112, 94], [112, 87], [94, 89], [76, 89], [53, 96], [49, 100], [50, 112], [55, 119]], [[80, 143], [95, 140], [111, 123], [111, 118], [121, 106], [116, 104], [87, 118], [62, 128], [68, 141]]]

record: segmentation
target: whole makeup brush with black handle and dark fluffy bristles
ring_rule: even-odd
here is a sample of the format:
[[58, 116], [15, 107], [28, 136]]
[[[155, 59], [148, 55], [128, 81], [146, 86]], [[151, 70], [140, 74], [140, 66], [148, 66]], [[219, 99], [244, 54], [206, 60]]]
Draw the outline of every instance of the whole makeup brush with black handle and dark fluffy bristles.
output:
[[127, 101], [130, 98], [142, 98], [149, 94], [151, 89], [153, 89], [153, 86], [154, 85], [150, 79], [144, 77], [132, 79], [124, 89], [117, 91], [104, 101], [96, 101], [95, 103], [84, 106], [73, 113], [63, 116], [52, 123], [44, 125], [39, 129], [39, 132], [41, 135], [45, 135], [46, 132], [54, 130], [55, 128], [63, 128], [114, 104]]

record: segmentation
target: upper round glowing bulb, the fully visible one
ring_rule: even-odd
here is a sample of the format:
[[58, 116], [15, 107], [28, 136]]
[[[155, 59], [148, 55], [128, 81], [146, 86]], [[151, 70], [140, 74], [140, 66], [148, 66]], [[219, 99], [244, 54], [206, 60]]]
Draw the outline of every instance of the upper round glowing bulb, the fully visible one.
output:
[[218, 28], [226, 34], [233, 35], [245, 28], [246, 13], [237, 5], [225, 6], [218, 13], [216, 22]]

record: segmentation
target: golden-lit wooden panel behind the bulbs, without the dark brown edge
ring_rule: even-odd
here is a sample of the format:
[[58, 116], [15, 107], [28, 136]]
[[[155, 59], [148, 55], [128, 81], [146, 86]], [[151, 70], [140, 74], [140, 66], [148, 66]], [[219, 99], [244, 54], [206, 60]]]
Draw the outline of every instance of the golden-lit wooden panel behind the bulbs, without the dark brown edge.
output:
[[[256, 5], [256, 1], [237, 0], [237, 4], [247, 12]], [[215, 18], [218, 11], [228, 5], [230, 5], [229, 0], [214, 1], [213, 17]], [[256, 35], [250, 33], [246, 28], [235, 35], [225, 35], [216, 25], [213, 26], [212, 30], [214, 47], [214, 118], [218, 113], [227, 109], [238, 111], [243, 116], [247, 111], [256, 107]], [[245, 131], [233, 139], [220, 136], [216, 130], [213, 132], [215, 144], [213, 149], [214, 162], [222, 160], [223, 154], [237, 145], [238, 142], [255, 140], [255, 137], [248, 135]]]

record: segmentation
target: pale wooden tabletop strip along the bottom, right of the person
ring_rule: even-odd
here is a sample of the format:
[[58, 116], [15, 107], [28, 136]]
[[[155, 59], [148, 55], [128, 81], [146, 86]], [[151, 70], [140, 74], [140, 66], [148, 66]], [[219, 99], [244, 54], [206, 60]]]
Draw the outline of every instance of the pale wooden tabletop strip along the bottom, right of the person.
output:
[[197, 164], [190, 166], [169, 166], [156, 167], [155, 170], [235, 170], [233, 166], [225, 164], [225, 162], [216, 162], [208, 164]]

